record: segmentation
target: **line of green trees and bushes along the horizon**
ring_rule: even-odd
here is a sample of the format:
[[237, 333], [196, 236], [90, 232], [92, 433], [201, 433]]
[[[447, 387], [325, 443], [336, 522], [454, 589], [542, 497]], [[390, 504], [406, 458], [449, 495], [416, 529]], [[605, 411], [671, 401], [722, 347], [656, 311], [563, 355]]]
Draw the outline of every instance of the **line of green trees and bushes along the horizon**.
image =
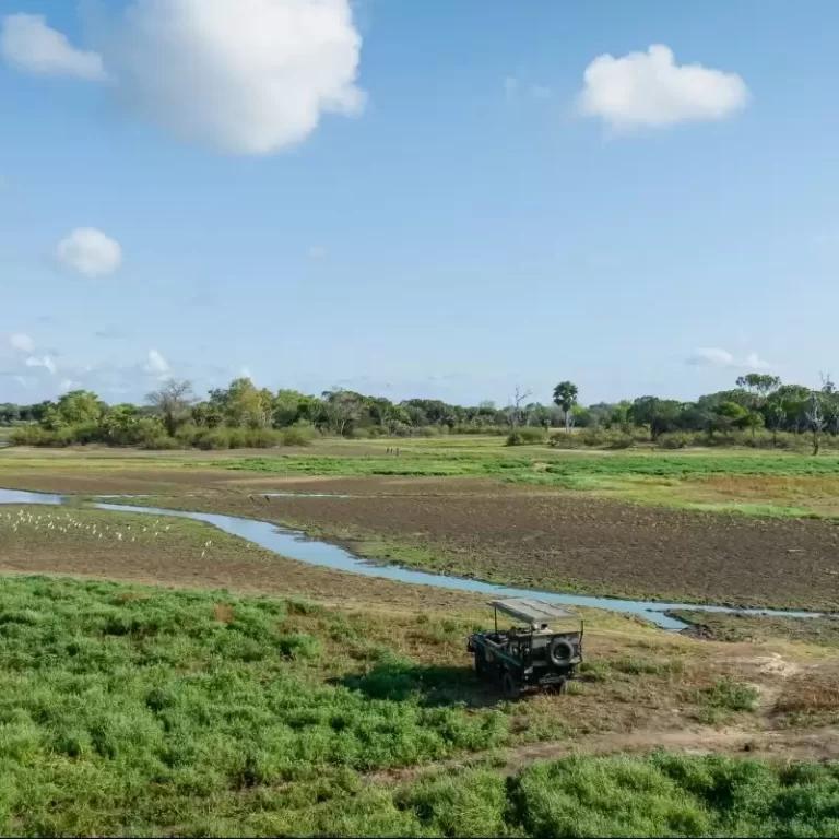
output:
[[[508, 442], [516, 445], [546, 440], [552, 429], [570, 435], [579, 428], [591, 432], [591, 439], [600, 430], [627, 437], [640, 429], [653, 444], [686, 433], [709, 440], [735, 432], [757, 439], [759, 433], [773, 444], [782, 434], [807, 434], [817, 451], [824, 434], [839, 433], [839, 393], [829, 376], [813, 389], [753, 373], [740, 377], [731, 390], [693, 402], [645, 395], [582, 405], [571, 381], [559, 382], [547, 404], [531, 401], [531, 395], [517, 388], [504, 407], [489, 401], [464, 406], [435, 399], [392, 402], [340, 388], [320, 395], [287, 389], [274, 392], [238, 378], [199, 399], [189, 381], [170, 379], [139, 405], [109, 405], [88, 390], [33, 405], [0, 404], [0, 425], [14, 426], [12, 441], [21, 445], [102, 442], [147, 448], [292, 445], [319, 434], [506, 434]], [[553, 440], [563, 445], [556, 434]]]

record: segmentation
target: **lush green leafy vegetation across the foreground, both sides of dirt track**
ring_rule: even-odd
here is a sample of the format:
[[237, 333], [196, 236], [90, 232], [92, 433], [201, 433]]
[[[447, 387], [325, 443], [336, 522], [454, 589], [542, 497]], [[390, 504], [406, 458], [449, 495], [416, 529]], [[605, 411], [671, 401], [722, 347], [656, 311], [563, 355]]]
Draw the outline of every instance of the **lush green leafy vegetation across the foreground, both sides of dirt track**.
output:
[[[445, 649], [465, 625], [417, 621], [420, 635], [394, 631], [392, 647], [379, 640], [387, 625], [224, 593], [0, 580], [0, 831], [839, 830], [839, 769], [829, 765], [654, 754], [568, 758], [505, 778], [492, 749], [510, 742], [515, 718], [504, 706], [466, 707], [468, 669], [420, 664], [400, 651], [400, 639], [417, 637]], [[672, 670], [617, 659], [608, 672], [635, 680]], [[700, 708], [742, 711], [754, 700], [725, 680], [698, 693]], [[406, 780], [388, 775], [469, 752], [485, 755]]]

